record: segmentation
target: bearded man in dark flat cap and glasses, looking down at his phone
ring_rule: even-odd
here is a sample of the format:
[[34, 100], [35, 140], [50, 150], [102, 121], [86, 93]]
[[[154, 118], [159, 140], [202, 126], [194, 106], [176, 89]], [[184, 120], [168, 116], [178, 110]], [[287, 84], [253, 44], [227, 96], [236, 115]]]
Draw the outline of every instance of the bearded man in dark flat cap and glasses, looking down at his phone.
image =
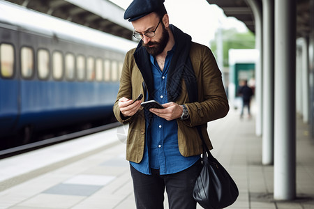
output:
[[[202, 130], [211, 149], [207, 122], [224, 117], [229, 106], [221, 73], [208, 47], [169, 24], [163, 0], [134, 0], [124, 13], [140, 39], [126, 54], [114, 114], [129, 123], [130, 161], [137, 208], [196, 208], [195, 180], [202, 169]], [[156, 100], [164, 109], [143, 109]]]

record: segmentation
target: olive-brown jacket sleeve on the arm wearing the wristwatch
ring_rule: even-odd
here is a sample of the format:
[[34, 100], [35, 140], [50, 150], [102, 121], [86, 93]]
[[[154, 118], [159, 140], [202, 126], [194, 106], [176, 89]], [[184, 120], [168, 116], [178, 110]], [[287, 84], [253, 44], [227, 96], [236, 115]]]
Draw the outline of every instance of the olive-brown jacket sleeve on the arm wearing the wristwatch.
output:
[[193, 68], [199, 68], [194, 69], [199, 100], [186, 104], [190, 119], [184, 123], [190, 127], [223, 118], [229, 111], [221, 72], [214, 55], [208, 47], [202, 47], [199, 51], [196, 56], [198, 64], [193, 65]]

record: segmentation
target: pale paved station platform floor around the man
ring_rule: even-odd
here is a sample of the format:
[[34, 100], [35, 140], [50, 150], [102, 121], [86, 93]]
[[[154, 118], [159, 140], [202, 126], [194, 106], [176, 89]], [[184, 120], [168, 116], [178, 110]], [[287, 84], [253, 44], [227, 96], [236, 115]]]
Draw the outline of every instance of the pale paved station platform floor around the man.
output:
[[[0, 160], [0, 208], [133, 209], [126, 126]], [[297, 118], [297, 199], [275, 201], [274, 167], [262, 165], [255, 120], [230, 109], [209, 123], [212, 154], [230, 172], [239, 198], [228, 208], [314, 208], [314, 145]], [[165, 194], [165, 208], [167, 195]], [[197, 208], [201, 208], [197, 206]]]

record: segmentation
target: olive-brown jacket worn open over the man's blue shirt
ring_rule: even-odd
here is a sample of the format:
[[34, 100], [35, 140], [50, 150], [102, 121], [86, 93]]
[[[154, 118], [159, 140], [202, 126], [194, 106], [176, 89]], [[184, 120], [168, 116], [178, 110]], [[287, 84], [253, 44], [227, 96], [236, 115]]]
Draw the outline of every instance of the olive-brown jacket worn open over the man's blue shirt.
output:
[[[135, 63], [131, 49], [124, 60], [121, 73], [119, 93], [114, 103], [114, 115], [121, 123], [129, 123], [128, 139], [126, 142], [126, 160], [140, 162], [144, 153], [145, 119], [144, 110], [140, 109], [134, 116], [124, 118], [119, 109], [119, 99], [122, 97], [135, 100], [140, 93], [144, 95], [142, 74]], [[202, 140], [195, 126], [202, 125], [202, 135], [207, 147], [212, 149], [207, 133], [207, 122], [223, 118], [229, 111], [229, 104], [223, 88], [221, 72], [218, 69], [211, 50], [192, 42], [190, 60], [197, 79], [199, 102], [188, 102], [186, 85], [182, 80], [182, 93], [177, 104], [186, 104], [190, 118], [186, 121], [177, 119], [179, 151], [183, 156], [200, 155], [202, 153]], [[147, 60], [149, 62], [149, 60]], [[142, 98], [144, 101], [145, 98]]]

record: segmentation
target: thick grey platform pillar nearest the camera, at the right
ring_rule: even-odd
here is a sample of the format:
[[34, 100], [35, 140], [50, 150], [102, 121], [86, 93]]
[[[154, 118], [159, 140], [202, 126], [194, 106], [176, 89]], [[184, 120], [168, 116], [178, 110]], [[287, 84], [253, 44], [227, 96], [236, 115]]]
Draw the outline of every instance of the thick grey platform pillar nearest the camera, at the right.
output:
[[296, 1], [275, 0], [274, 199], [296, 196]]

